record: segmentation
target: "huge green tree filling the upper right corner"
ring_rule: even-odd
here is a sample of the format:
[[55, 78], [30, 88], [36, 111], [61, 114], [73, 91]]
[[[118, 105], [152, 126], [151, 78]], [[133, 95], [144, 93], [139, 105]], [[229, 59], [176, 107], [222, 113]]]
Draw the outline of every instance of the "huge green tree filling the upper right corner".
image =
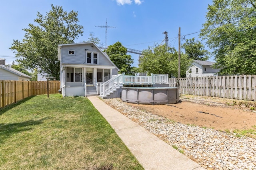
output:
[[256, 74], [254, 0], [213, 0], [201, 31], [221, 74]]

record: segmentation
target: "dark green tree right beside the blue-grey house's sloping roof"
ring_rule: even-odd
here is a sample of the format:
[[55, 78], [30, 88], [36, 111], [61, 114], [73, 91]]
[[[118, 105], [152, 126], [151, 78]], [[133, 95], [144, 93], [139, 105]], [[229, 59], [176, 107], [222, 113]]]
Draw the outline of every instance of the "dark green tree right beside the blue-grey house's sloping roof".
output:
[[119, 41], [108, 46], [106, 53], [110, 60], [120, 69], [119, 73], [128, 75], [136, 74], [137, 69], [131, 66], [133, 59], [131, 55], [127, 55], [127, 49]]

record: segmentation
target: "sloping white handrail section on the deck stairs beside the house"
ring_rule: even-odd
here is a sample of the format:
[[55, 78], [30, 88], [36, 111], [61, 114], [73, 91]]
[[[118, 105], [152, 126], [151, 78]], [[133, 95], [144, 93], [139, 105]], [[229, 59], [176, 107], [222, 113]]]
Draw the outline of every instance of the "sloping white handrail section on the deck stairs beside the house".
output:
[[104, 83], [100, 83], [100, 95], [106, 96], [108, 92], [115, 89], [116, 87], [120, 86], [120, 84], [124, 83], [124, 73], [118, 74], [113, 78], [110, 78], [108, 81]]

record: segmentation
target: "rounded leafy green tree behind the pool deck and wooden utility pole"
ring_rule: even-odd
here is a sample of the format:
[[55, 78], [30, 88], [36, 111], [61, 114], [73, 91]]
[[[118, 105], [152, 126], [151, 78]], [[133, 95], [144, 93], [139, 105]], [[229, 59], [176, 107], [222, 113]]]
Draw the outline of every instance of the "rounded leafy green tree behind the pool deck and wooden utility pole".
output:
[[[181, 54], [180, 74], [186, 76], [186, 70], [192, 63], [187, 55]], [[154, 45], [142, 51], [139, 59], [140, 72], [152, 74], [169, 74], [170, 77], [178, 77], [178, 52], [174, 48], [165, 45]]]

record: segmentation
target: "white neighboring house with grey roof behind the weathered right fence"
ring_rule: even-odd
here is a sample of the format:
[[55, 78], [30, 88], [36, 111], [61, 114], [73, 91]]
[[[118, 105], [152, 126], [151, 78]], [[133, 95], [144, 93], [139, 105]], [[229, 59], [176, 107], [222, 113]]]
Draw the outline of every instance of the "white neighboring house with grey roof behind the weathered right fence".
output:
[[214, 69], [212, 61], [194, 60], [186, 71], [186, 77], [218, 76], [220, 69]]

